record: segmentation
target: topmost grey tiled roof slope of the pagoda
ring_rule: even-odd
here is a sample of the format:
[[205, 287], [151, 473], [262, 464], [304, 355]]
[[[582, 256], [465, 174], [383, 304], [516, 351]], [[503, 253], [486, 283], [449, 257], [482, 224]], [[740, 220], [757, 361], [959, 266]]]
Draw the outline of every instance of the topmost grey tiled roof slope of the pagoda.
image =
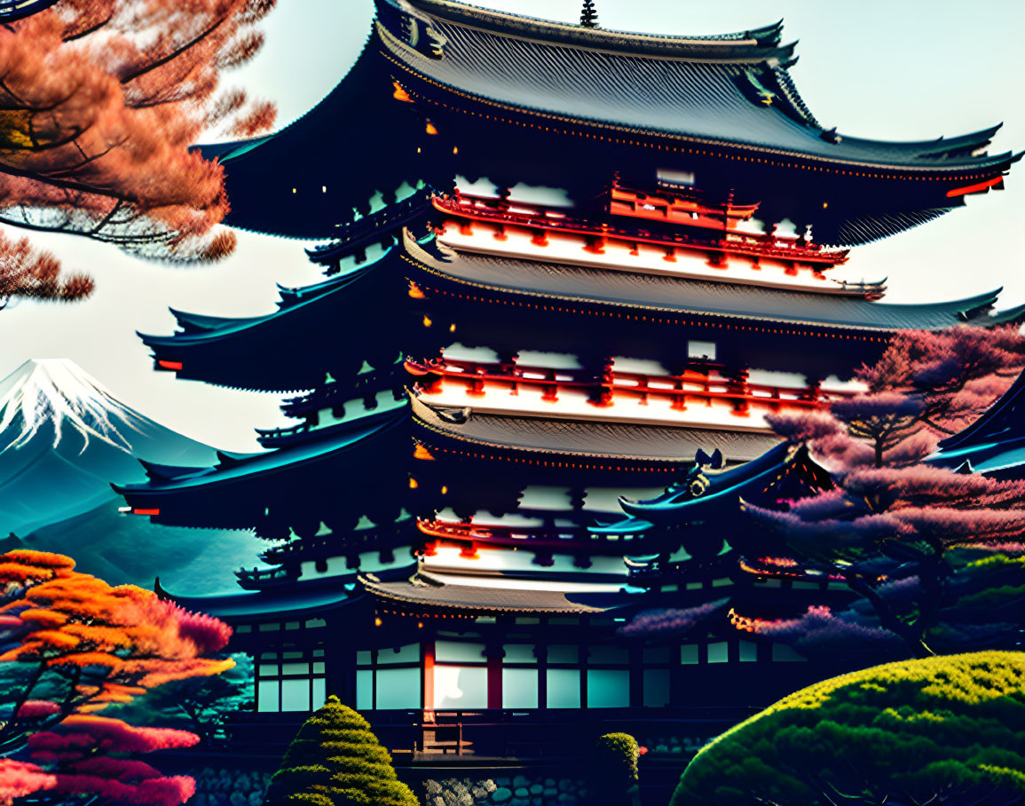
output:
[[[787, 67], [794, 44], [781, 24], [721, 37], [655, 36], [588, 29], [466, 6], [451, 0], [378, 0], [382, 52], [402, 73], [479, 102], [547, 121], [744, 147], [818, 163], [930, 172], [990, 171], [1017, 159], [976, 152], [997, 127], [952, 139], [890, 143], [825, 130]], [[406, 19], [430, 47], [403, 40]], [[415, 99], [415, 96], [414, 96]], [[1020, 155], [1019, 155], [1020, 156]]]

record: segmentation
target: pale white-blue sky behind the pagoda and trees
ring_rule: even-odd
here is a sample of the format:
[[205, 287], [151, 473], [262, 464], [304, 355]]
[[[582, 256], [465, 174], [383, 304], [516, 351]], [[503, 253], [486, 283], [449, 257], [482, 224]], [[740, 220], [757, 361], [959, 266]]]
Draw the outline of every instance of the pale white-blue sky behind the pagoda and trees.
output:
[[[578, 0], [479, 0], [506, 11], [574, 22]], [[784, 18], [799, 40], [791, 74], [823, 126], [879, 139], [953, 136], [1003, 121], [991, 152], [1025, 150], [1019, 0], [597, 0], [599, 23], [620, 30], [712, 34]], [[366, 41], [371, 0], [279, 0], [266, 43], [225, 77], [279, 108], [304, 114], [341, 79]], [[344, 153], [339, 150], [336, 153]], [[344, 211], [339, 211], [339, 218]], [[850, 278], [889, 277], [887, 301], [933, 301], [1003, 286], [999, 307], [1025, 301], [1025, 162], [1007, 190], [968, 200], [939, 220], [854, 250]], [[10, 235], [18, 233], [9, 232]], [[90, 272], [93, 296], [74, 305], [23, 301], [0, 312], [0, 378], [30, 358], [70, 358], [144, 414], [227, 450], [256, 450], [253, 428], [287, 422], [279, 397], [176, 380], [155, 372], [135, 331], [169, 333], [168, 307], [220, 316], [274, 310], [275, 284], [321, 279], [303, 242], [240, 232], [239, 247], [208, 267], [146, 263], [73, 236], [37, 235], [69, 269]]]

